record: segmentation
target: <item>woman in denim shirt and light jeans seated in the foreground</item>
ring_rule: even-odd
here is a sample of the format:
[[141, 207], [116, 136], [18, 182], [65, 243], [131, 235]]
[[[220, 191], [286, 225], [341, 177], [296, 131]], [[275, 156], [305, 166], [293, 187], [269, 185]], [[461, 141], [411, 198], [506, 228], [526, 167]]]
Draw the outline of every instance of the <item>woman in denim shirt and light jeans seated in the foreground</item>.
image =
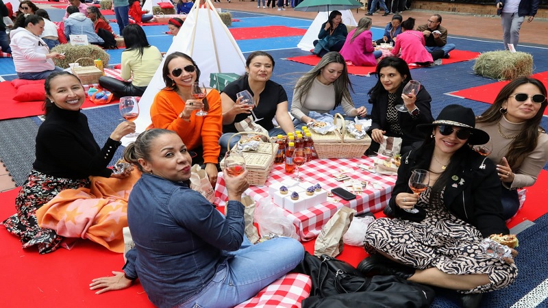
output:
[[158, 307], [234, 307], [302, 261], [297, 240], [253, 245], [245, 237], [240, 201], [247, 171], [224, 172], [229, 201], [223, 216], [188, 188], [192, 159], [177, 133], [149, 129], [127, 146], [124, 159], [143, 172], [127, 202], [135, 248], [123, 272], [93, 279], [91, 290], [121, 290], [139, 279]]

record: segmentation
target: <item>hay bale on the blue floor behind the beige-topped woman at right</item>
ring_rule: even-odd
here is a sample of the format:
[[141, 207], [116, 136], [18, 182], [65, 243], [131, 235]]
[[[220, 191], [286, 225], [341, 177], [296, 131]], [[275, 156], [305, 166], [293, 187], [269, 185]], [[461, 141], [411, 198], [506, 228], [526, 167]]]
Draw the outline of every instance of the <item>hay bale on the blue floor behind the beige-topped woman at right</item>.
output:
[[533, 73], [533, 57], [521, 51], [488, 51], [475, 59], [474, 73], [498, 80], [530, 76]]

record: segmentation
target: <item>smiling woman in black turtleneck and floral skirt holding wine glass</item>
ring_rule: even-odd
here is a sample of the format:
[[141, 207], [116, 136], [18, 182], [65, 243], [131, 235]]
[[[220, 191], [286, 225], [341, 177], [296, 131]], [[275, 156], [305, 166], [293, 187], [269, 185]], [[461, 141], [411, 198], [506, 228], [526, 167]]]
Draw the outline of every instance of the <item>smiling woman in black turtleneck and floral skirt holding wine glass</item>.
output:
[[62, 190], [89, 187], [90, 175], [123, 179], [107, 168], [120, 146], [120, 140], [135, 131], [135, 123], [119, 123], [103, 147], [93, 138], [88, 118], [80, 107], [86, 92], [80, 80], [68, 72], [56, 72], [45, 81], [46, 119], [36, 135], [36, 159], [15, 199], [17, 214], [3, 221], [5, 228], [21, 238], [23, 248], [38, 246], [38, 252], [51, 253], [63, 238], [51, 229], [41, 229], [36, 210]]

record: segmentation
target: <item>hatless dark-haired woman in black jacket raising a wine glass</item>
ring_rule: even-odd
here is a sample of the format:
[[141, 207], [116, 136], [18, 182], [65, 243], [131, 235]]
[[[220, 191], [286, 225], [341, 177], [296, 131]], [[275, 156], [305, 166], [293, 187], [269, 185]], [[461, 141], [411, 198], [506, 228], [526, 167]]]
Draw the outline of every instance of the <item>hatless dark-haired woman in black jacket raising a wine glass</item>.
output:
[[[416, 128], [419, 124], [432, 123], [430, 112], [432, 98], [424, 86], [418, 92], [404, 93], [403, 89], [412, 80], [409, 66], [399, 57], [385, 57], [376, 68], [377, 84], [369, 90], [372, 142], [366, 153], [376, 153], [384, 136], [402, 139], [400, 153], [417, 149], [424, 140], [424, 134]], [[397, 110], [403, 105], [404, 112]]]

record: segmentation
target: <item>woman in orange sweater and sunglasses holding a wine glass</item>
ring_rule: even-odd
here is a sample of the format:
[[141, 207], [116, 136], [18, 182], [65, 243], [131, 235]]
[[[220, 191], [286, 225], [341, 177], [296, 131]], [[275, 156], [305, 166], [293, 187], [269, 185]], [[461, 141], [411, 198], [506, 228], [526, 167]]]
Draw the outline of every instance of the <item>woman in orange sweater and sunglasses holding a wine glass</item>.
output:
[[[166, 88], [162, 89], [150, 108], [152, 126], [175, 131], [186, 144], [192, 165], [205, 164], [210, 182], [215, 187], [219, 164], [219, 137], [223, 130], [221, 95], [208, 89], [206, 99], [209, 109], [192, 98], [192, 84], [200, 79], [200, 69], [192, 57], [171, 53], [166, 57], [162, 75]], [[206, 116], [196, 116], [204, 108]]]

